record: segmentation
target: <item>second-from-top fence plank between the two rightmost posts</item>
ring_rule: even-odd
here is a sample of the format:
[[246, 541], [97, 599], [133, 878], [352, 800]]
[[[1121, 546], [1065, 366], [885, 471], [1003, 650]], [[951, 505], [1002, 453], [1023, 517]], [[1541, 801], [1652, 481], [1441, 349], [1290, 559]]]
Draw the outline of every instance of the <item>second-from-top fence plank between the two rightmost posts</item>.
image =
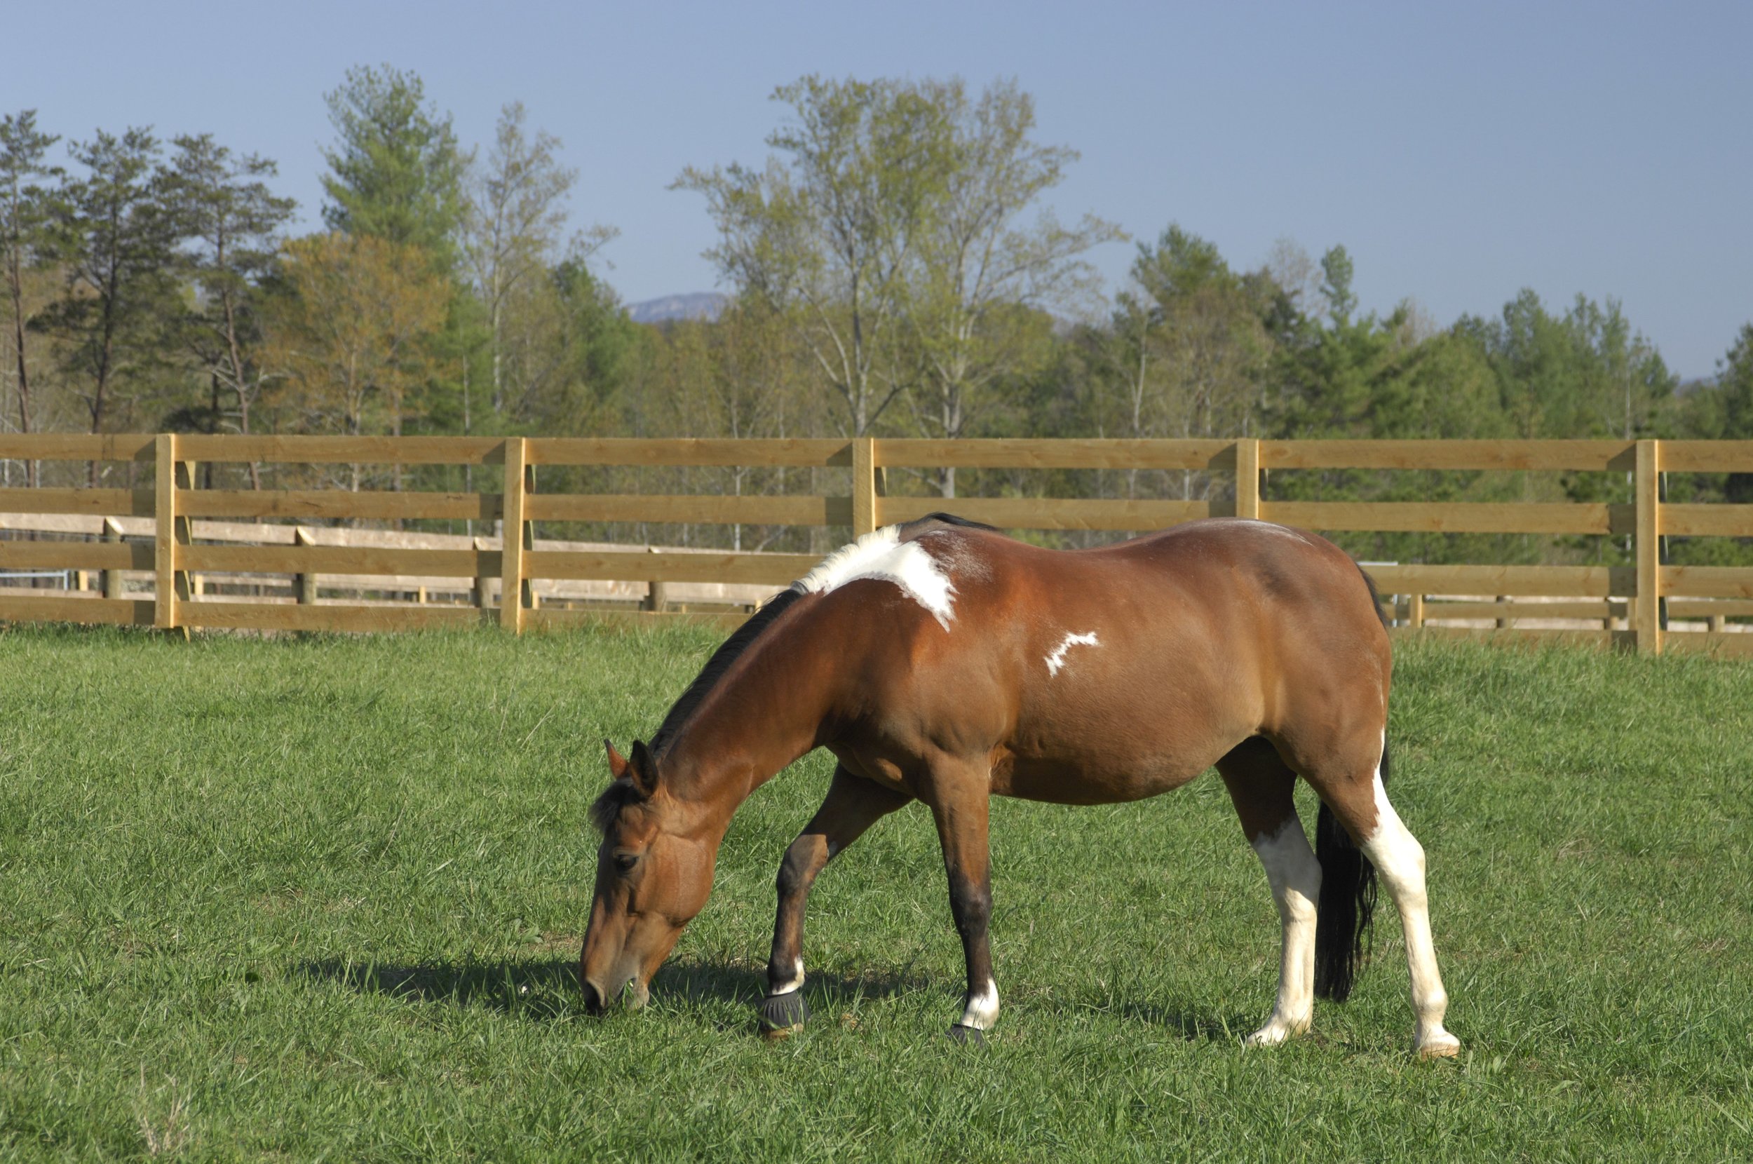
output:
[[1629, 533], [1629, 505], [1537, 501], [1264, 501], [1264, 521], [1299, 529], [1395, 533]]

